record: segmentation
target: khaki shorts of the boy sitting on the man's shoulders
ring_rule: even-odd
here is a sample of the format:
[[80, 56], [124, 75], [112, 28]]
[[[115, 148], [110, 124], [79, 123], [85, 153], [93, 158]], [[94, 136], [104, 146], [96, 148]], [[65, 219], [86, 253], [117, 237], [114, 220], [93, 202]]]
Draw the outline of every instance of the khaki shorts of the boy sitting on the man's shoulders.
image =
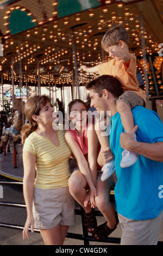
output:
[[130, 109], [133, 109], [135, 106], [145, 106], [145, 101], [138, 96], [135, 92], [127, 91], [124, 92], [119, 98], [114, 100], [115, 105], [118, 102], [125, 102]]

